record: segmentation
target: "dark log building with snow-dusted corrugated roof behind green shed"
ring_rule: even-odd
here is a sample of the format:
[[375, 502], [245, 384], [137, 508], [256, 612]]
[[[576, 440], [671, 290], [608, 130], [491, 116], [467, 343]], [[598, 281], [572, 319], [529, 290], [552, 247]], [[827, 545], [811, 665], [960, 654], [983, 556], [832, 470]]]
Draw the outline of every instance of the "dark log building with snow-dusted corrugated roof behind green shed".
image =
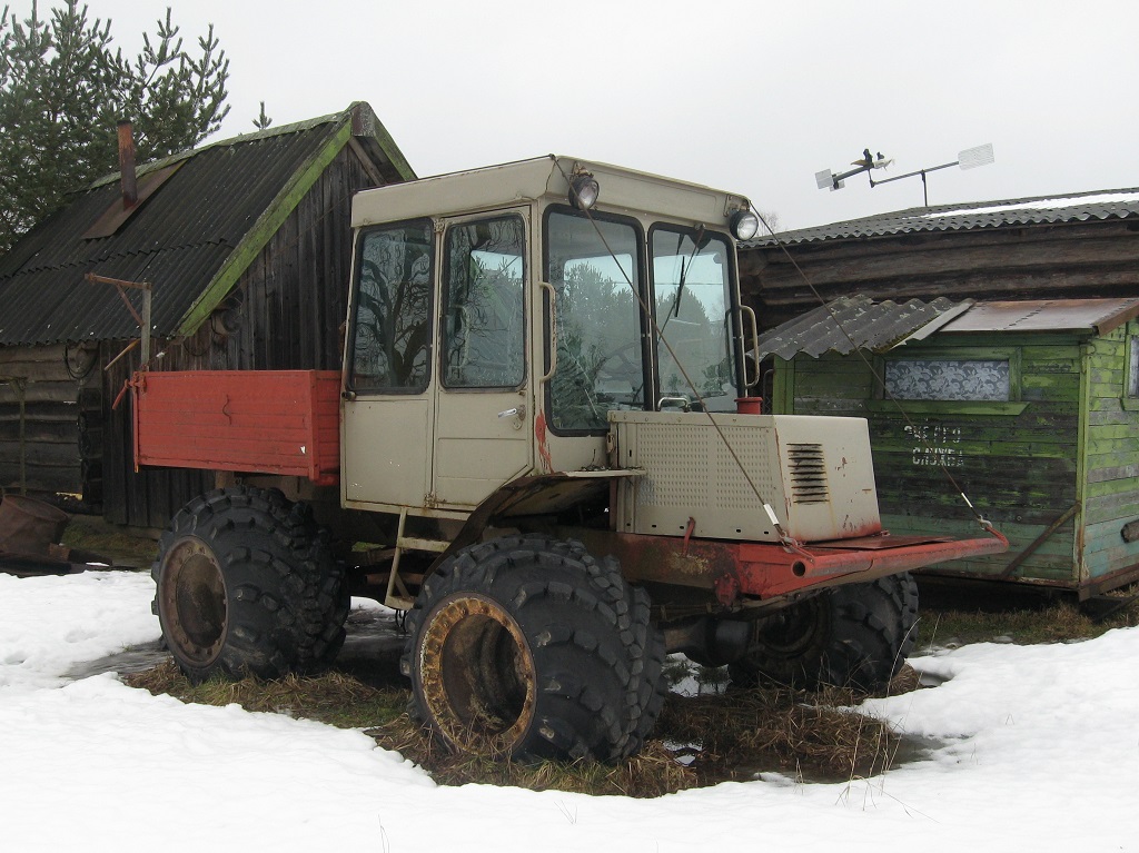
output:
[[773, 328], [822, 301], [1139, 295], [1139, 189], [915, 207], [740, 247], [740, 281]]

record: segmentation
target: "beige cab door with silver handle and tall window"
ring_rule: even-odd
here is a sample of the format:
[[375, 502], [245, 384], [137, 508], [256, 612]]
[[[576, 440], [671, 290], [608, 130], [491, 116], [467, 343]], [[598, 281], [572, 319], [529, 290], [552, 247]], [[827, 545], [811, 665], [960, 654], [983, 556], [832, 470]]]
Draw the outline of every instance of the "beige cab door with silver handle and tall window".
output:
[[432, 498], [469, 509], [532, 465], [528, 215], [519, 208], [444, 225]]

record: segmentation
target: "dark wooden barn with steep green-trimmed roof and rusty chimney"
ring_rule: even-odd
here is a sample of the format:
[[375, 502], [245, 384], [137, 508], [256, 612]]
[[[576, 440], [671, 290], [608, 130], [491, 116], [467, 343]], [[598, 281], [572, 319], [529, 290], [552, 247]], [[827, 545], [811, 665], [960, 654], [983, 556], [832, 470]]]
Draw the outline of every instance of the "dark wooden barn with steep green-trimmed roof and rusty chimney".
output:
[[140, 328], [150, 369], [338, 369], [352, 195], [415, 174], [363, 102], [137, 170], [120, 140], [122, 174], [0, 257], [0, 489], [155, 527], [213, 481], [133, 470]]

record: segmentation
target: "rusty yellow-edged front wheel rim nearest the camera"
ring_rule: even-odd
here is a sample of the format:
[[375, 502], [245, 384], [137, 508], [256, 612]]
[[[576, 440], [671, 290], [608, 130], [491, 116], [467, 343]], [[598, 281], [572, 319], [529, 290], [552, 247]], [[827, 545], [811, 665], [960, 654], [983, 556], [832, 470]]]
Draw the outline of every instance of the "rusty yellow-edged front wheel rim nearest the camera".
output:
[[518, 623], [498, 602], [460, 593], [429, 614], [420, 646], [424, 700], [457, 748], [509, 754], [534, 716], [535, 672]]

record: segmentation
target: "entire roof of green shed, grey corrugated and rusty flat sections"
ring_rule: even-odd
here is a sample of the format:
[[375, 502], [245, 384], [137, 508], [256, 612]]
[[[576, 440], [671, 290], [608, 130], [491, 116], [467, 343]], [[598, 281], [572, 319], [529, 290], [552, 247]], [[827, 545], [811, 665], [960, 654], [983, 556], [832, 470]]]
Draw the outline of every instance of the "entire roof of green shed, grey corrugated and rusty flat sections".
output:
[[835, 300], [760, 335], [760, 356], [789, 361], [798, 353], [818, 358], [855, 348], [885, 352], [907, 339], [934, 333], [1087, 331], [1105, 335], [1139, 317], [1136, 300], [1031, 300], [950, 302], [937, 298], [898, 304], [868, 296]]

